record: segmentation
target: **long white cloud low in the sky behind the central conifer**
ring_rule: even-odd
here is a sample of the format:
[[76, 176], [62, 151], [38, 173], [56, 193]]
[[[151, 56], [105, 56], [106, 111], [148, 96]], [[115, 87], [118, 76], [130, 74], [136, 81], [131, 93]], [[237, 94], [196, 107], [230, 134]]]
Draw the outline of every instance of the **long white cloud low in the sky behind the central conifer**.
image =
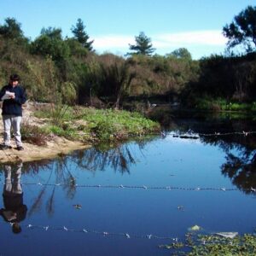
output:
[[[118, 55], [125, 55], [129, 51], [129, 44], [135, 44], [137, 35], [102, 35], [94, 38], [93, 46], [99, 53], [109, 51]], [[227, 39], [219, 30], [159, 33], [150, 35], [156, 52], [165, 55], [172, 50], [185, 47], [189, 49], [194, 58], [202, 55], [221, 52], [224, 50]]]

